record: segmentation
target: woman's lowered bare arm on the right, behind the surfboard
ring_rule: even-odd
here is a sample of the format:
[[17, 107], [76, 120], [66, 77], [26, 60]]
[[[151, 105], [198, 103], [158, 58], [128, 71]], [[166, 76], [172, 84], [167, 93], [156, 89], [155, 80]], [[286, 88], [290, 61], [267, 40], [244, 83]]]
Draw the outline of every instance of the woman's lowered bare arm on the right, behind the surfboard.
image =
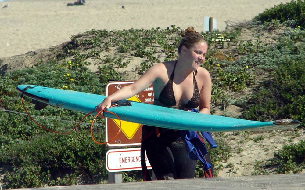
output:
[[[198, 72], [199, 74], [199, 72]], [[199, 74], [200, 80], [202, 80], [202, 88], [200, 90], [200, 105], [199, 113], [210, 114], [210, 103], [212, 93], [212, 81], [209, 71], [201, 69]]]

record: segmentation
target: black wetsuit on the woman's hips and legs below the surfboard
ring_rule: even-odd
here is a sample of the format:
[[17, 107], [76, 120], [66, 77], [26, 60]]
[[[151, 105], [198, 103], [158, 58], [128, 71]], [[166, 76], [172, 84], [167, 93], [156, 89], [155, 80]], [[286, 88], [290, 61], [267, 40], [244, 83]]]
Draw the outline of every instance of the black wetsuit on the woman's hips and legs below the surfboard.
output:
[[[194, 178], [196, 161], [188, 158], [179, 130], [142, 127], [142, 145], [158, 180]], [[148, 137], [148, 134], [149, 137]], [[142, 158], [141, 158], [142, 159]], [[145, 158], [143, 158], [145, 159]]]

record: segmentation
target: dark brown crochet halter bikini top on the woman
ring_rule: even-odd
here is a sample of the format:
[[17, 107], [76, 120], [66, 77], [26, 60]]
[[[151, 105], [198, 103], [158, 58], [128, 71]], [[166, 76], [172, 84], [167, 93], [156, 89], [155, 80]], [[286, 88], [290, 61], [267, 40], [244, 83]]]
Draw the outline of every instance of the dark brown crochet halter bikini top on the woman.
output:
[[[154, 99], [157, 101], [160, 101], [162, 104], [166, 106], [175, 106], [176, 105], [176, 99], [174, 95], [174, 90], [173, 90], [173, 80], [174, 80], [174, 72], [176, 68], [177, 61], [174, 65], [174, 69], [172, 74], [170, 75], [170, 79], [168, 80], [167, 84], [164, 86], [162, 89], [159, 99]], [[200, 93], [198, 90], [198, 85], [197, 81], [195, 78], [195, 74], [193, 72], [193, 83], [194, 83], [194, 93], [193, 97], [188, 101], [187, 104], [185, 104], [183, 107], [185, 108], [197, 108], [200, 104]]]

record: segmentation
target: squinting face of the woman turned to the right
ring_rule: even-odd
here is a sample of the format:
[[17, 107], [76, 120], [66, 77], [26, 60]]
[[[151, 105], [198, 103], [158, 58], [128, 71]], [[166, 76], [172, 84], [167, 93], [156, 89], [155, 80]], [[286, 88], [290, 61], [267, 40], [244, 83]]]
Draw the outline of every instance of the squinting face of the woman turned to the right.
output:
[[206, 42], [198, 42], [189, 49], [186, 48], [185, 58], [191, 64], [192, 70], [196, 71], [206, 58], [208, 46]]

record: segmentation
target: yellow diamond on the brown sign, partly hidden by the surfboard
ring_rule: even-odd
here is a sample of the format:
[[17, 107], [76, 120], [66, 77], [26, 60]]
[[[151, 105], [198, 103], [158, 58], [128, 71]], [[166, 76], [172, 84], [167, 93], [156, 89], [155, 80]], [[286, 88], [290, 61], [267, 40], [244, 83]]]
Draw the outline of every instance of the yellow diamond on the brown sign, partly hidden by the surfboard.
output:
[[[127, 100], [135, 101], [135, 102], [141, 102], [138, 97], [133, 96]], [[120, 121], [118, 119], [112, 119], [114, 123], [117, 125], [117, 127], [120, 127]], [[139, 129], [141, 124], [128, 122], [128, 121], [121, 121], [121, 131], [124, 133], [124, 135], [128, 139], [132, 139], [134, 137], [135, 133]]]

